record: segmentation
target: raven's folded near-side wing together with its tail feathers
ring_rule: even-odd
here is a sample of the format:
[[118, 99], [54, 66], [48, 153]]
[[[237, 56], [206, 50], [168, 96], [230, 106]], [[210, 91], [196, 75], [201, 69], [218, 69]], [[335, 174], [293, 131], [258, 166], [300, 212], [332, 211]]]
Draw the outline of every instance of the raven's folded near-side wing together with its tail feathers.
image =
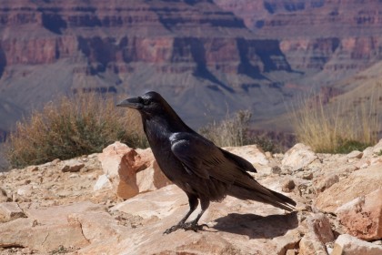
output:
[[[281, 209], [293, 210], [296, 202], [259, 184], [246, 170], [244, 158], [226, 154], [206, 138], [193, 133], [175, 133], [170, 137], [171, 150], [186, 171], [203, 179], [214, 178], [232, 184], [227, 194], [240, 199], [253, 199]], [[226, 156], [228, 155], [228, 156]], [[236, 160], [240, 158], [240, 160]], [[247, 162], [247, 163], [244, 163]]]

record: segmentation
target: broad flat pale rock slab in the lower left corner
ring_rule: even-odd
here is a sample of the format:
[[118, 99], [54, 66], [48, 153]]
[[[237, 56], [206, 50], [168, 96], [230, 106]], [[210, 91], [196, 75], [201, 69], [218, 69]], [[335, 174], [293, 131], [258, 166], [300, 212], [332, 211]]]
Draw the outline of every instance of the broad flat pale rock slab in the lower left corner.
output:
[[[0, 224], [0, 247], [26, 247], [36, 250], [38, 254], [47, 254], [50, 250], [57, 249], [60, 245], [65, 248], [74, 247], [82, 248], [88, 245], [91, 240], [87, 240], [84, 230], [92, 232], [93, 236], [97, 236], [97, 231], [106, 230], [108, 227], [101, 228], [95, 223], [94, 230], [88, 230], [87, 223], [90, 220], [100, 221], [107, 219], [105, 215], [106, 208], [95, 205], [91, 202], [75, 203], [67, 206], [52, 206], [43, 209], [25, 209], [27, 219], [15, 219], [4, 224]], [[99, 213], [98, 217], [93, 214]], [[81, 217], [75, 218], [73, 215], [81, 214]], [[81, 218], [81, 220], [79, 220]], [[78, 219], [78, 220], [74, 220]], [[85, 229], [82, 223], [86, 225]], [[116, 223], [115, 223], [116, 224]], [[111, 226], [111, 225], [110, 225]], [[99, 228], [98, 230], [96, 228]], [[110, 232], [105, 231], [110, 234]]]

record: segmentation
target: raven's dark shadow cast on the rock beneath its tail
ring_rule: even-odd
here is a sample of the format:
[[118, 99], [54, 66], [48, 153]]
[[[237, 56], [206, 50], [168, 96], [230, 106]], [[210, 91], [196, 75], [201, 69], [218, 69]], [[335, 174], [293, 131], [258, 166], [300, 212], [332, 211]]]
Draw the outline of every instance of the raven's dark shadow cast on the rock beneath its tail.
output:
[[297, 212], [286, 215], [259, 216], [256, 214], [230, 213], [215, 220], [214, 229], [246, 235], [250, 239], [273, 239], [298, 227]]

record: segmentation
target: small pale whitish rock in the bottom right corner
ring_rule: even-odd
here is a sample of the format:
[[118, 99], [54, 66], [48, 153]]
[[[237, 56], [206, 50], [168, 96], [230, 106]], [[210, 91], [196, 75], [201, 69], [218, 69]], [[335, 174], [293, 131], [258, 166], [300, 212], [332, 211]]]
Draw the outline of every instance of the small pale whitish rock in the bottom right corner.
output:
[[331, 255], [380, 255], [382, 246], [359, 240], [348, 234], [340, 235]]

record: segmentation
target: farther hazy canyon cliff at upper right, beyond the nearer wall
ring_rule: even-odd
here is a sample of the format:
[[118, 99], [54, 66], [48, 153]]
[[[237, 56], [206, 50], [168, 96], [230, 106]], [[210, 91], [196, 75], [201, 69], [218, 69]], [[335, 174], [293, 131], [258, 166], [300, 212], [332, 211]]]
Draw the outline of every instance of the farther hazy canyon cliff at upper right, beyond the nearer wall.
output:
[[325, 84], [382, 60], [380, 1], [215, 0], [215, 3], [243, 18], [258, 38], [279, 40], [293, 69], [306, 73], [323, 70], [325, 75], [319, 75], [319, 79]]

